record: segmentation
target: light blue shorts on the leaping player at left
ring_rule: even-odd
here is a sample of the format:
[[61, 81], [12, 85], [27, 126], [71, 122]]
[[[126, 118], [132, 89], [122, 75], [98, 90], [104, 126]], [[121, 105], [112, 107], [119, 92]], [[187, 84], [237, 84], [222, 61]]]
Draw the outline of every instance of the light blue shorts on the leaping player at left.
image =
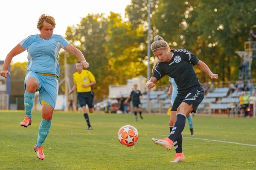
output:
[[25, 81], [24, 81], [25, 90], [26, 90], [26, 80], [29, 77], [34, 77], [38, 81], [39, 87], [37, 89], [37, 92], [39, 92], [40, 104], [42, 104], [41, 100], [43, 100], [47, 104], [49, 104], [51, 107], [55, 108], [57, 95], [58, 95], [57, 77], [41, 75], [39, 73], [29, 71], [26, 73], [26, 77], [25, 77]]

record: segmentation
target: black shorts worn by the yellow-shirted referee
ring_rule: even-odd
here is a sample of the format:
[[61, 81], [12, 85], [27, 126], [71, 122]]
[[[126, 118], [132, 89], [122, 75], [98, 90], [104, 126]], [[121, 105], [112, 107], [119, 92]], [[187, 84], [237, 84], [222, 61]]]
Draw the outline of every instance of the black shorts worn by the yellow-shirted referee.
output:
[[87, 104], [90, 109], [93, 108], [93, 92], [79, 92], [77, 100], [80, 107]]

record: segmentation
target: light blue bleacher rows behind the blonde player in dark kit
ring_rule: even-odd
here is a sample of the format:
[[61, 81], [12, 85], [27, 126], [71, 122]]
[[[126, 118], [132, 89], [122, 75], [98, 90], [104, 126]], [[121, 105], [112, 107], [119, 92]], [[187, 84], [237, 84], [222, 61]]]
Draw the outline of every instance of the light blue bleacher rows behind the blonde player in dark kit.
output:
[[[229, 95], [229, 88], [216, 88], [204, 96], [204, 100], [198, 106], [198, 112], [226, 113], [239, 103], [241, 92]], [[141, 100], [142, 108], [147, 109], [147, 98]], [[167, 112], [171, 107], [171, 98], [167, 92], [154, 91], [150, 93], [151, 112]]]

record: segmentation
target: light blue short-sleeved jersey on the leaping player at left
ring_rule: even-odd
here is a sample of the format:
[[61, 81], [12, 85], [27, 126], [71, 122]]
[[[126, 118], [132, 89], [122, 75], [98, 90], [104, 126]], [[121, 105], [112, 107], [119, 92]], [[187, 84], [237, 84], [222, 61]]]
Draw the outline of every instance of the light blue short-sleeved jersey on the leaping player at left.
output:
[[52, 35], [50, 39], [43, 39], [37, 35], [30, 35], [20, 42], [28, 52], [27, 72], [39, 72], [60, 75], [58, 55], [61, 48], [69, 42], [61, 35]]

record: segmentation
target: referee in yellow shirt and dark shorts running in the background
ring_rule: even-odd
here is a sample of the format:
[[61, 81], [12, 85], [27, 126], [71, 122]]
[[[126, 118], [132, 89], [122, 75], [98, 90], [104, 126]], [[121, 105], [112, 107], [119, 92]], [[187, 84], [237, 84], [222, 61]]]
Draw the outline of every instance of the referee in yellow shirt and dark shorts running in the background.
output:
[[88, 125], [87, 130], [92, 130], [93, 127], [90, 125], [86, 104], [88, 105], [89, 112], [93, 113], [93, 92], [91, 91], [91, 86], [96, 84], [96, 81], [94, 75], [88, 70], [83, 70], [83, 66], [80, 63], [80, 61], [76, 63], [77, 72], [73, 74], [74, 86], [68, 94], [70, 95], [73, 91], [77, 90], [77, 99]]

